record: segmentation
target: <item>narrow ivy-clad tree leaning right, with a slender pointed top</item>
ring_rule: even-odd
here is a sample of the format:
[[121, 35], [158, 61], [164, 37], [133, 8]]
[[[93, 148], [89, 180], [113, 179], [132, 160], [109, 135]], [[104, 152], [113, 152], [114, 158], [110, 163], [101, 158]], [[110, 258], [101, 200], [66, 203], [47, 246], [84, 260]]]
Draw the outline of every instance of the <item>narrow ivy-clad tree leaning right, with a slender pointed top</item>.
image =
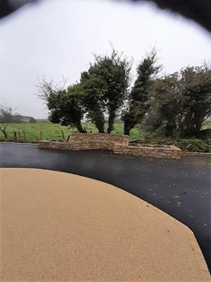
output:
[[151, 101], [150, 91], [160, 66], [156, 65], [156, 51], [152, 50], [137, 68], [137, 79], [129, 95], [128, 110], [124, 113], [124, 134], [130, 135], [131, 129], [141, 122]]

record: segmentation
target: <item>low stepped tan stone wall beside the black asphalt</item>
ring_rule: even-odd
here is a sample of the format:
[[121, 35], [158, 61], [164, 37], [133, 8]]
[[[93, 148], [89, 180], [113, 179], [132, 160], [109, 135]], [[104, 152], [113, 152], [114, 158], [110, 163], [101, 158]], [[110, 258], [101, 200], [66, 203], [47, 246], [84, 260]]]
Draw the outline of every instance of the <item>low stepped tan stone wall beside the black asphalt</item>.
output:
[[117, 134], [75, 133], [71, 135], [68, 142], [40, 141], [38, 146], [42, 149], [109, 149], [119, 155], [181, 158], [181, 150], [176, 146], [168, 148], [129, 146], [129, 137]]

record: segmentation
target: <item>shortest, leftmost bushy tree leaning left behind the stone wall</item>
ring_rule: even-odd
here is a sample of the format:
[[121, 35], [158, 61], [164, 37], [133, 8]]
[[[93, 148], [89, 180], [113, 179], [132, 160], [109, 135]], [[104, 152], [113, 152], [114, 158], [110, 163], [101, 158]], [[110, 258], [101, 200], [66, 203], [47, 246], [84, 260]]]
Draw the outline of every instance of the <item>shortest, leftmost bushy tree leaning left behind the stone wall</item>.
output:
[[65, 81], [54, 85], [53, 81], [45, 78], [39, 80], [38, 96], [49, 109], [49, 121], [63, 126], [74, 126], [80, 133], [86, 130], [81, 125], [84, 109], [81, 100], [79, 84], [64, 89]]

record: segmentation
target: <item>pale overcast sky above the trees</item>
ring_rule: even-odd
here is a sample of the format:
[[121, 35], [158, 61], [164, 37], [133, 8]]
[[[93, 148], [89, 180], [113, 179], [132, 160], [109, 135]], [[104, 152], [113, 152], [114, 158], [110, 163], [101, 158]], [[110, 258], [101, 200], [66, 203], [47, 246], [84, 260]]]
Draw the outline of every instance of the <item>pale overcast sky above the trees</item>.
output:
[[79, 80], [93, 53], [109, 42], [134, 68], [154, 45], [163, 72], [211, 61], [211, 36], [192, 21], [149, 4], [109, 0], [45, 0], [0, 20], [1, 102], [22, 115], [46, 118], [34, 95], [38, 77]]

